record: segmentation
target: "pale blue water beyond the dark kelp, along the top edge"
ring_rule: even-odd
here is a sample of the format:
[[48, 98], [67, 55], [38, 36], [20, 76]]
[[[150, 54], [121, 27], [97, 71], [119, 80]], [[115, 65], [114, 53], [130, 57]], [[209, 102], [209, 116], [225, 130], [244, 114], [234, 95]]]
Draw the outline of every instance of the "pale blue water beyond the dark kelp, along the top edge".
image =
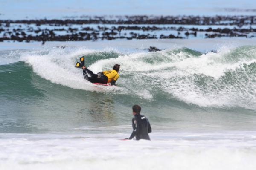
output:
[[[0, 0], [0, 19], [102, 15], [255, 15], [253, 0]], [[49, 6], [50, 4], [50, 6]]]

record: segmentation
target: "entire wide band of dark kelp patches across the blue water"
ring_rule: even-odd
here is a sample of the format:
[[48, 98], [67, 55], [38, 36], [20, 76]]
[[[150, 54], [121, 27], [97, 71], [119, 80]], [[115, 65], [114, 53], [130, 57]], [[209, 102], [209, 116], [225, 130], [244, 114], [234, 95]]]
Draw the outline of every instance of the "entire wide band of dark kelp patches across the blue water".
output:
[[79, 20], [0, 20], [0, 41], [41, 41], [44, 44], [46, 41], [215, 37], [256, 37], [256, 16], [142, 15], [84, 16]]

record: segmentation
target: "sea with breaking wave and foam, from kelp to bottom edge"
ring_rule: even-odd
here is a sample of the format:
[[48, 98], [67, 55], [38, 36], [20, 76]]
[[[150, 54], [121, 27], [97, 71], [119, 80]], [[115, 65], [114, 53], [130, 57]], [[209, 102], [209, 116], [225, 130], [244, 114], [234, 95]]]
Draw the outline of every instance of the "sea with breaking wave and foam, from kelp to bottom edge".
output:
[[[120, 64], [117, 86], [84, 80], [83, 55]], [[134, 104], [151, 141], [119, 140]], [[0, 150], [0, 170], [254, 170], [256, 40], [2, 42]]]

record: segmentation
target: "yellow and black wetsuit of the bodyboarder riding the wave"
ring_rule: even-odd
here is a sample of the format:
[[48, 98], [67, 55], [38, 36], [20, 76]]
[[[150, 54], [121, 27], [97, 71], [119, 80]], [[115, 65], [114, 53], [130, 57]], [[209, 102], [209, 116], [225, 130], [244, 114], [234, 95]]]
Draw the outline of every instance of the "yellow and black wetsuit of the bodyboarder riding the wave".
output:
[[116, 80], [119, 78], [119, 74], [116, 70], [107, 70], [94, 74], [91, 70], [83, 69], [84, 78], [91, 83], [103, 83], [107, 84], [111, 82], [111, 85], [115, 85]]

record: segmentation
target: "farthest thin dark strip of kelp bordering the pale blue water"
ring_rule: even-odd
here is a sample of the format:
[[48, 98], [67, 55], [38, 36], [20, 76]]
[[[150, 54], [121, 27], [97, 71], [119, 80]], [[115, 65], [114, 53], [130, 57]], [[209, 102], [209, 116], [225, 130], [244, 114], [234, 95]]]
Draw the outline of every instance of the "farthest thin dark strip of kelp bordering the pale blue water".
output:
[[65, 20], [0, 20], [1, 23], [26, 23], [51, 24], [55, 26], [67, 24], [181, 24], [181, 25], [248, 25], [256, 24], [256, 16], [118, 16], [107, 17], [86, 17], [86, 19], [65, 19]]

